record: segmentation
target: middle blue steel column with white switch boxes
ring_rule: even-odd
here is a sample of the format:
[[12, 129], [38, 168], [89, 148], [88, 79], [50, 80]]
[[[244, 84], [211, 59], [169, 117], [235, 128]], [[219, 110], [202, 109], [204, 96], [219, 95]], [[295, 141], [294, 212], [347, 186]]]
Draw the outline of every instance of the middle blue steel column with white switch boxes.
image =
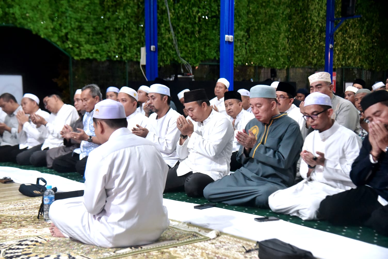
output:
[[233, 41], [225, 41], [225, 35], [234, 37], [234, 0], [221, 0], [220, 12], [220, 77], [228, 79], [233, 90]]

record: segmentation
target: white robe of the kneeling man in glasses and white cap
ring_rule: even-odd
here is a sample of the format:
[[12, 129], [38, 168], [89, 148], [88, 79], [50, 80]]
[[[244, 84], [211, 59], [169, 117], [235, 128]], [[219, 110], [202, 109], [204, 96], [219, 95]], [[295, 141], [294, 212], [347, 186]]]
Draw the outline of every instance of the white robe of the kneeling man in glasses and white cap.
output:
[[300, 174], [304, 180], [272, 193], [268, 197], [269, 207], [274, 212], [298, 216], [303, 220], [319, 219], [319, 205], [327, 195], [355, 188], [349, 174], [360, 148], [360, 138], [336, 121], [326, 131], [313, 131], [306, 137], [302, 150], [316, 156], [317, 151], [324, 153], [324, 166], [317, 165], [307, 177], [308, 167], [302, 159]]

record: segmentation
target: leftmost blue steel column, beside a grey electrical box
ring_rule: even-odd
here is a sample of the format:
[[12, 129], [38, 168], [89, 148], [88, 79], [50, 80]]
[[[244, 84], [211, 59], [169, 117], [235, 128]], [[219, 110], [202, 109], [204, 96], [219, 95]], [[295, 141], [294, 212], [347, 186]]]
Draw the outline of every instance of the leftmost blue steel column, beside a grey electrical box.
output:
[[[145, 0], [145, 76], [148, 81], [158, 77], [157, 0]], [[151, 47], [154, 49], [151, 50]]]

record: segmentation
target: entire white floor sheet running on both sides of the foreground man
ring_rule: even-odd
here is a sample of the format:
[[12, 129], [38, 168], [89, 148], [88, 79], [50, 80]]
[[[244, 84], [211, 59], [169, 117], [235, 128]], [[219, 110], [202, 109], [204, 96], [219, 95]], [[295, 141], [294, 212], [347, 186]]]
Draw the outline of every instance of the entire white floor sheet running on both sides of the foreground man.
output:
[[[47, 180], [47, 184], [56, 186], [59, 192], [83, 190], [83, 183], [34, 170], [0, 167], [0, 178], [4, 176], [11, 177], [16, 183], [35, 183], [36, 178], [43, 177]], [[170, 219], [219, 230], [255, 241], [278, 238], [301, 249], [309, 250], [314, 256], [322, 259], [388, 258], [387, 248], [283, 220], [257, 222], [254, 218], [258, 218], [258, 215], [217, 207], [199, 210], [194, 209], [194, 205], [198, 204], [169, 199], [163, 199], [163, 205], [167, 207], [168, 218]]]

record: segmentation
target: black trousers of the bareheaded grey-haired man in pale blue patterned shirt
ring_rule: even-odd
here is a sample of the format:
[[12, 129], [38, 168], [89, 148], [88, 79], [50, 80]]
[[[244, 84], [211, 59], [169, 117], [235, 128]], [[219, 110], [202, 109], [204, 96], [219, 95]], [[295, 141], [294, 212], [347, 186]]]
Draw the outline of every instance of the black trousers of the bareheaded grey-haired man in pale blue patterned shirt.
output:
[[52, 162], [52, 169], [59, 173], [77, 172], [84, 176], [87, 161], [88, 157], [84, 157], [80, 160], [79, 154], [71, 152], [69, 154], [55, 158]]

